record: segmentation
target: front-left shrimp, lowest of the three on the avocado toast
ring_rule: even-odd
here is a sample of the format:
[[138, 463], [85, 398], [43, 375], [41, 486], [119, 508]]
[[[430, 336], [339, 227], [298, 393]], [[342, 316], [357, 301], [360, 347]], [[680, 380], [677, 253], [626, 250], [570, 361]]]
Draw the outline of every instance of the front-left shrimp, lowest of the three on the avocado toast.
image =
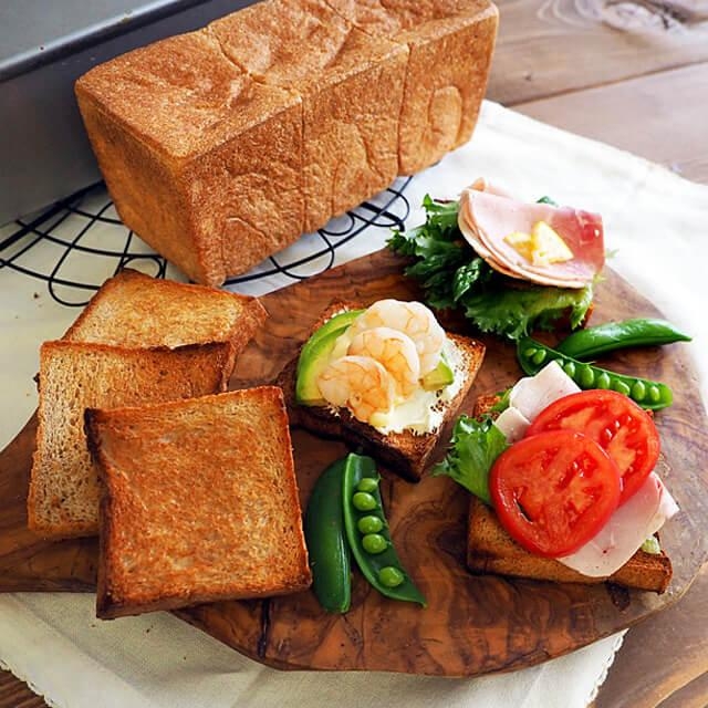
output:
[[396, 395], [393, 376], [369, 356], [335, 358], [317, 377], [317, 386], [325, 400], [346, 406], [362, 423], [388, 413]]

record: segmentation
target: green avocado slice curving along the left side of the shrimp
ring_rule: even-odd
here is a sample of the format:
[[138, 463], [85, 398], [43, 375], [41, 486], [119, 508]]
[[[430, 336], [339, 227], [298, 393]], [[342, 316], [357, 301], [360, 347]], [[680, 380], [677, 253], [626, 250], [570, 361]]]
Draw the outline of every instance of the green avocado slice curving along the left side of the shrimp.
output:
[[299, 404], [315, 406], [324, 403], [317, 388], [317, 377], [327, 365], [336, 341], [362, 312], [347, 310], [334, 315], [305, 342], [298, 360], [295, 400]]

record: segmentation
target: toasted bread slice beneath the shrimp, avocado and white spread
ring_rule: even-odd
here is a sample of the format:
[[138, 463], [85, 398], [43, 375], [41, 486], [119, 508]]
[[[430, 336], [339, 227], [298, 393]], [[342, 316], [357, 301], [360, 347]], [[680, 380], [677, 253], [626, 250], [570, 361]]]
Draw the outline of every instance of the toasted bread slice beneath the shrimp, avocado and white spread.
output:
[[[314, 333], [334, 314], [355, 309], [352, 303], [333, 303], [325, 310], [312, 329]], [[459, 353], [464, 381], [458, 393], [445, 405], [445, 416], [440, 427], [434, 433], [414, 434], [408, 430], [384, 435], [373, 426], [357, 420], [347, 408], [331, 406], [304, 406], [295, 400], [295, 382], [299, 355], [281, 372], [278, 385], [283, 388], [291, 425], [325, 437], [343, 439], [353, 447], [361, 447], [382, 465], [391, 467], [410, 481], [419, 481], [455, 413], [469, 392], [485, 356], [485, 345], [476, 340], [449, 334], [448, 339]]]

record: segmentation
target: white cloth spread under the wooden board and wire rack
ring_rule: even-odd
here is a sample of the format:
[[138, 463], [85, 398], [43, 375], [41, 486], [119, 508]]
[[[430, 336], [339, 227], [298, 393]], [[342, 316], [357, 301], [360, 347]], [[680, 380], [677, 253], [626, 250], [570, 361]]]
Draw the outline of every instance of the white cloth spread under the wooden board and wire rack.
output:
[[[621, 150], [486, 103], [473, 139], [418, 175], [406, 190], [413, 214], [426, 192], [455, 197], [485, 175], [529, 199], [555, 200], [603, 215], [612, 267], [695, 339], [708, 345], [705, 263], [708, 187]], [[9, 231], [0, 230], [0, 239]], [[337, 251], [342, 262], [381, 248], [373, 230]], [[296, 248], [303, 248], [300, 244]], [[50, 247], [32, 257], [51, 259]], [[261, 294], [291, 281], [238, 288]], [[60, 336], [76, 311], [52, 301], [40, 281], [0, 271], [0, 447], [37, 406], [32, 376], [42, 341]], [[704, 400], [705, 357], [697, 358]], [[457, 706], [585, 707], [606, 676], [623, 633], [513, 674], [437, 679], [376, 673], [282, 673], [251, 662], [169, 614], [101, 622], [92, 595], [0, 596], [0, 665], [66, 708], [122, 706]]]

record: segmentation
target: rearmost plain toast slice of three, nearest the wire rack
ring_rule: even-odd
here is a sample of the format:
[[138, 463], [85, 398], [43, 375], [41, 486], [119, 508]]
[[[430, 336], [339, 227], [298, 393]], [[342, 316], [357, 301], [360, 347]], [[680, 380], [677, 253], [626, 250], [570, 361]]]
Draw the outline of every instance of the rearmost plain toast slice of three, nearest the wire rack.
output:
[[228, 342], [232, 368], [267, 316], [256, 298], [126, 268], [106, 280], [63, 339], [137, 348]]

